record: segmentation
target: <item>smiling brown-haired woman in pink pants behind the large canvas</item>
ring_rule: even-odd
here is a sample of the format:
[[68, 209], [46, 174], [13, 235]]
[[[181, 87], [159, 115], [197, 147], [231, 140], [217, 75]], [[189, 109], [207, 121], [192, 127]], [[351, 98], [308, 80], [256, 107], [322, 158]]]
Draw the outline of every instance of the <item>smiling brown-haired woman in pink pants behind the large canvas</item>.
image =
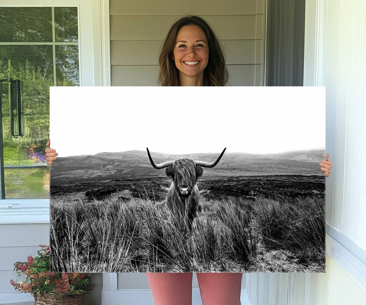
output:
[[[162, 86], [224, 86], [229, 78], [220, 43], [207, 22], [198, 16], [180, 18], [170, 27], [159, 66]], [[192, 273], [146, 276], [156, 304], [191, 303]], [[240, 304], [241, 276], [197, 273], [203, 303]]]

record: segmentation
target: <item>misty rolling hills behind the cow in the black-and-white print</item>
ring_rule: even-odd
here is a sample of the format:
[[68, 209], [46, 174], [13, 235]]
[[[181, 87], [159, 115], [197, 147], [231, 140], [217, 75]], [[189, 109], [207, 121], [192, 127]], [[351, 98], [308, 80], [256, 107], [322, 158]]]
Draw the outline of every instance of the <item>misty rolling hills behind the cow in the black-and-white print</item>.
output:
[[[205, 169], [205, 176], [254, 175], [322, 175], [318, 163], [324, 158], [323, 150], [286, 152], [280, 154], [245, 154], [225, 152], [219, 164]], [[156, 163], [191, 158], [214, 161], [219, 153], [172, 155], [151, 152]], [[154, 169], [146, 151], [103, 152], [96, 155], [58, 157], [51, 167], [54, 183], [80, 179], [124, 179], [129, 177], [164, 176], [164, 170]]]

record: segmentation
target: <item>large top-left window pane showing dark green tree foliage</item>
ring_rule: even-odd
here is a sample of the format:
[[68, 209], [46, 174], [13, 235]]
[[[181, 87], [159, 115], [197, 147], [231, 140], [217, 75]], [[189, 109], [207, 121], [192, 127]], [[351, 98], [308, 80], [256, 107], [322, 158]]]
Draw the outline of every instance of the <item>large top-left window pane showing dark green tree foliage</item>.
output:
[[0, 41], [52, 41], [51, 8], [0, 8]]

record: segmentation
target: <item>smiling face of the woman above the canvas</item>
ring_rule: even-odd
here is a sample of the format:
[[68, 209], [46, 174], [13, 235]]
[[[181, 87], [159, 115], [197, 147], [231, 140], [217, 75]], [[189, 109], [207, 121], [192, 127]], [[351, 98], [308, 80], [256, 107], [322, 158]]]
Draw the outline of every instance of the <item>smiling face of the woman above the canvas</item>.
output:
[[[198, 25], [182, 26], [177, 34], [173, 57], [182, 77], [203, 77], [208, 63], [208, 41]], [[203, 79], [203, 78], [202, 78]]]

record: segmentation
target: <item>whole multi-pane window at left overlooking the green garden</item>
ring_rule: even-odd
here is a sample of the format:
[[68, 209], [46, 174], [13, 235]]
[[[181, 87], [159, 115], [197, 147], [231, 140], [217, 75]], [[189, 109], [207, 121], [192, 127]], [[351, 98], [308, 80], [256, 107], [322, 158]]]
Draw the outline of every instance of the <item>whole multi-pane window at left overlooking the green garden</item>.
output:
[[25, 133], [10, 128], [2, 81], [5, 198], [48, 198], [49, 87], [79, 86], [77, 7], [0, 8], [0, 78], [23, 81]]

